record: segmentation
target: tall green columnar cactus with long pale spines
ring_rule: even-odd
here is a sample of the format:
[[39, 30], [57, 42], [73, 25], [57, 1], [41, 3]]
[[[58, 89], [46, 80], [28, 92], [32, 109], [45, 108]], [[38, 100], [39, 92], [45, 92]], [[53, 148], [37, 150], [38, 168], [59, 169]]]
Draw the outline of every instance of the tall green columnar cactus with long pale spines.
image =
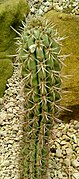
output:
[[[49, 175], [49, 139], [60, 111], [61, 68], [60, 38], [45, 19], [28, 20], [17, 40], [24, 78], [25, 174], [27, 179]], [[22, 150], [22, 152], [23, 152]], [[22, 164], [23, 165], [23, 164]], [[23, 179], [23, 176], [22, 176]]]

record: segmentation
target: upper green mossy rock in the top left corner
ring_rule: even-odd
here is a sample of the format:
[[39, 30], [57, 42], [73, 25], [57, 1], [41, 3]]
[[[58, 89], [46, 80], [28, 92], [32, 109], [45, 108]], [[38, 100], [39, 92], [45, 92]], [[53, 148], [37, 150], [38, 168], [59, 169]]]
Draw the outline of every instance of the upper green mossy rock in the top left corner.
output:
[[5, 56], [3, 52], [8, 48], [12, 48], [10, 52], [14, 54], [13, 38], [16, 33], [10, 26], [17, 29], [28, 12], [29, 6], [26, 0], [5, 0], [5, 3], [4, 1], [0, 3], [0, 58]]

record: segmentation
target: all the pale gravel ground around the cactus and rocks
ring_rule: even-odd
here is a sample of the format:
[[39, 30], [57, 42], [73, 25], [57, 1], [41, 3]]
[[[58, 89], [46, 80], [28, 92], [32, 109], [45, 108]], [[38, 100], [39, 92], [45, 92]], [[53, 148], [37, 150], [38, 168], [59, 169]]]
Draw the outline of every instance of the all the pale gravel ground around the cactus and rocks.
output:
[[[43, 15], [54, 8], [63, 11], [69, 1], [29, 1], [32, 15]], [[79, 1], [73, 6], [79, 13]], [[58, 8], [57, 8], [58, 6]], [[69, 5], [68, 5], [69, 6]], [[74, 11], [74, 10], [73, 10]], [[78, 13], [77, 13], [78, 12]], [[74, 13], [74, 12], [72, 12]], [[8, 80], [5, 95], [0, 99], [0, 178], [19, 179], [19, 152], [22, 131], [23, 88], [18, 62], [14, 63], [14, 73]], [[53, 140], [52, 140], [53, 139]], [[79, 179], [79, 122], [56, 124], [53, 128], [51, 145], [51, 165], [53, 179]]]

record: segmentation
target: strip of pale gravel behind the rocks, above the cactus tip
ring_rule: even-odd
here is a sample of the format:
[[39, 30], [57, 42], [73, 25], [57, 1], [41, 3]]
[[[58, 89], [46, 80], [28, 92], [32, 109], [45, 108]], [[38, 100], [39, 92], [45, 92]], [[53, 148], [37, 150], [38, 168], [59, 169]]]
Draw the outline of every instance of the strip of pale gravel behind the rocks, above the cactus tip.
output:
[[28, 0], [31, 15], [43, 15], [51, 9], [79, 15], [79, 0]]

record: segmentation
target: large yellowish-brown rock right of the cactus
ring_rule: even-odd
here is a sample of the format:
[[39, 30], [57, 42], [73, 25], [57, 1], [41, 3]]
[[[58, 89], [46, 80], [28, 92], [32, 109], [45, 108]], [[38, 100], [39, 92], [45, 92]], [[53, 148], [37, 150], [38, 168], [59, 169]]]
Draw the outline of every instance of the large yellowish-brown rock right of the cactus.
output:
[[[58, 19], [60, 14], [63, 14], [65, 20]], [[77, 35], [79, 34], [79, 18], [54, 10], [49, 11], [46, 18], [51, 23], [56, 24], [60, 36], [69, 37], [62, 42], [62, 54], [71, 55], [64, 60], [66, 66], [63, 66], [61, 72], [62, 75], [69, 75], [67, 79], [63, 78], [62, 88], [67, 90], [67, 93], [62, 94], [61, 105], [71, 109], [72, 112], [62, 112], [61, 118], [65, 121], [79, 120], [79, 35]]]

